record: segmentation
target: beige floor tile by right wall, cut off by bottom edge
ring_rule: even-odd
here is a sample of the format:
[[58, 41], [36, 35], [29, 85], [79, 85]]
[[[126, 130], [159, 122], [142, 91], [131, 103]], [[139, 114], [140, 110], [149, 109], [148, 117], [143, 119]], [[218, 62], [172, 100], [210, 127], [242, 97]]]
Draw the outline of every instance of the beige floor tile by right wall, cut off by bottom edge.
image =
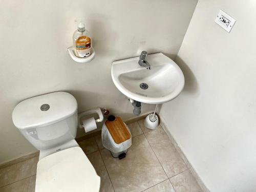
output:
[[182, 172], [170, 178], [170, 182], [172, 182], [176, 192], [202, 192], [203, 191], [189, 170], [185, 170], [185, 172]]

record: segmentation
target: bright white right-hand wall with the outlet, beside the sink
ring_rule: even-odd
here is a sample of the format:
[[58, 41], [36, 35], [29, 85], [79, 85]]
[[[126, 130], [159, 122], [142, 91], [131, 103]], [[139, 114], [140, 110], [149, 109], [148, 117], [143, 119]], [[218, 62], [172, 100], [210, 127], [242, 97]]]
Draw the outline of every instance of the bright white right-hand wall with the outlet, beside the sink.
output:
[[[237, 19], [227, 33], [219, 9]], [[256, 189], [256, 1], [199, 0], [176, 62], [185, 89], [161, 115], [210, 191]]]

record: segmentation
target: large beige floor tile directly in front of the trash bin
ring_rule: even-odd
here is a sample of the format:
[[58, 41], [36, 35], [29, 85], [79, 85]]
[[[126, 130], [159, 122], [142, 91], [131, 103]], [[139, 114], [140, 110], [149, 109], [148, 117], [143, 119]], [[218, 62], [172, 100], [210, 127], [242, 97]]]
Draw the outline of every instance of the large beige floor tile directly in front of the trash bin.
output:
[[106, 149], [100, 153], [116, 192], [142, 191], [167, 179], [143, 134], [132, 139], [124, 159], [113, 158]]

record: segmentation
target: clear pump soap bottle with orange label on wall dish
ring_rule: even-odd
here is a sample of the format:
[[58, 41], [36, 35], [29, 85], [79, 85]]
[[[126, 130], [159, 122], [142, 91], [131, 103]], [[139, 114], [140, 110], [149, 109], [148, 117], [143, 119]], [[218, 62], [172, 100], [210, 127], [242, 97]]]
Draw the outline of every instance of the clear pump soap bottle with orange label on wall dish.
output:
[[91, 55], [92, 39], [82, 22], [78, 24], [78, 29], [73, 34], [73, 44], [77, 57], [88, 57]]

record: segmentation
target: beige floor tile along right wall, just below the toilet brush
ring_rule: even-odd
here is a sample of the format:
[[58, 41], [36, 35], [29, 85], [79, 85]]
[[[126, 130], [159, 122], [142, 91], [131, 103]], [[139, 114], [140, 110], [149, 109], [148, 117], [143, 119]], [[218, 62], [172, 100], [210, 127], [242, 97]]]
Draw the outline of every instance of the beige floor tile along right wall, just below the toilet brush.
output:
[[185, 162], [162, 129], [145, 133], [167, 176], [173, 177], [187, 169]]

